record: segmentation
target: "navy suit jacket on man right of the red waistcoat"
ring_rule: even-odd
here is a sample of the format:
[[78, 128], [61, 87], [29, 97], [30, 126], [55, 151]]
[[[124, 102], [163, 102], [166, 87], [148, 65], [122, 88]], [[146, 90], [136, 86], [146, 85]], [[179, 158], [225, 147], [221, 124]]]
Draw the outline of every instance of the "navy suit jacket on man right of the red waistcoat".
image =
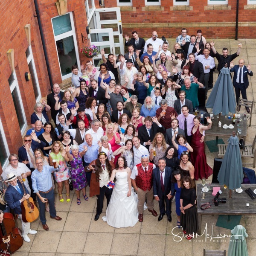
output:
[[[164, 195], [168, 195], [171, 190], [174, 190], [174, 184], [172, 183], [172, 168], [166, 166], [164, 174]], [[160, 170], [158, 167], [153, 170], [153, 193], [159, 197], [163, 193], [161, 187]]]

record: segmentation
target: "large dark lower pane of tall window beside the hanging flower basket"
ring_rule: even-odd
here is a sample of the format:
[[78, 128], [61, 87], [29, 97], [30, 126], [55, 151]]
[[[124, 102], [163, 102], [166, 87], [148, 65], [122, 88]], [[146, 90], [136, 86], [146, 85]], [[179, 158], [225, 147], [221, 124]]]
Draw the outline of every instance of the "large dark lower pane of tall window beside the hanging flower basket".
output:
[[77, 65], [73, 35], [56, 41], [56, 46], [61, 65], [61, 75], [65, 76], [71, 73], [73, 65]]

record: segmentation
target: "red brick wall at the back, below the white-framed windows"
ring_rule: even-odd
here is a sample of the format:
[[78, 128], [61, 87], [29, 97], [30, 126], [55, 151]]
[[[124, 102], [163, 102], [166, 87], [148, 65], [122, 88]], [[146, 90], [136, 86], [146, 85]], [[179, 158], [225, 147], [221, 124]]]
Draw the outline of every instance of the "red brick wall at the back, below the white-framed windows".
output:
[[[247, 0], [239, 0], [239, 22], [256, 22], [256, 10], [244, 10]], [[236, 22], [236, 0], [228, 0], [228, 6], [231, 10], [204, 10], [207, 6], [207, 0], [190, 0], [190, 6], [193, 11], [170, 11], [173, 6], [173, 0], [161, 0], [161, 6], [164, 11], [142, 11], [145, 7], [145, 1], [133, 1], [133, 7], [136, 11], [121, 11], [122, 23], [143, 23], [151, 24], [148, 28], [141, 28], [134, 25], [132, 29], [123, 27], [123, 34], [131, 36], [131, 31], [137, 30], [141, 37], [151, 37], [152, 31], [156, 30], [158, 35], [164, 35], [166, 38], [176, 38], [180, 35], [181, 26], [179, 27], [159, 27], [154, 23], [198, 23], [198, 27], [186, 26], [188, 35], [195, 34], [197, 29], [201, 29], [206, 38], [235, 38], [235, 26], [209, 26], [200, 27], [200, 22]], [[105, 0], [105, 7], [116, 7], [116, 0]], [[256, 27], [241, 26], [239, 27], [239, 38], [256, 38]]]

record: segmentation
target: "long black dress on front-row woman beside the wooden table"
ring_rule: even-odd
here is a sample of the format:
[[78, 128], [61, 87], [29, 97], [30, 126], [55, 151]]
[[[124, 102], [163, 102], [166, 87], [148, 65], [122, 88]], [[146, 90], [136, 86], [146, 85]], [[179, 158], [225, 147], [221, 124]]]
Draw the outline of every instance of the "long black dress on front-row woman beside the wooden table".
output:
[[180, 199], [183, 199], [183, 207], [188, 204], [193, 205], [192, 207], [185, 209], [185, 214], [181, 212], [180, 224], [183, 227], [183, 230], [186, 230], [188, 234], [195, 234], [198, 232], [198, 214], [197, 207], [195, 205], [195, 189], [181, 189]]

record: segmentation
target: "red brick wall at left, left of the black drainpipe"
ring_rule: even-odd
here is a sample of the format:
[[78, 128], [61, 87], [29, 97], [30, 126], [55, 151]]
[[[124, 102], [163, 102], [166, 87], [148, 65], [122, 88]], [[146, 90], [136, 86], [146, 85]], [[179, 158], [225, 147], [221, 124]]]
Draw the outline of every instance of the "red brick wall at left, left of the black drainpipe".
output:
[[14, 49], [15, 71], [22, 97], [21, 104], [23, 104], [28, 123], [30, 123], [30, 115], [35, 105], [32, 81], [26, 81], [24, 76], [25, 72], [29, 72], [25, 54], [29, 46], [24, 29], [26, 24], [31, 25], [32, 52], [42, 96], [45, 96], [49, 89], [37, 18], [34, 15], [33, 0], [0, 1], [0, 17], [4, 22], [1, 26], [0, 37], [0, 118], [4, 129], [2, 135], [6, 137], [11, 153], [17, 153], [22, 145], [22, 137], [8, 83], [8, 78], [12, 74], [6, 54], [9, 49]]

